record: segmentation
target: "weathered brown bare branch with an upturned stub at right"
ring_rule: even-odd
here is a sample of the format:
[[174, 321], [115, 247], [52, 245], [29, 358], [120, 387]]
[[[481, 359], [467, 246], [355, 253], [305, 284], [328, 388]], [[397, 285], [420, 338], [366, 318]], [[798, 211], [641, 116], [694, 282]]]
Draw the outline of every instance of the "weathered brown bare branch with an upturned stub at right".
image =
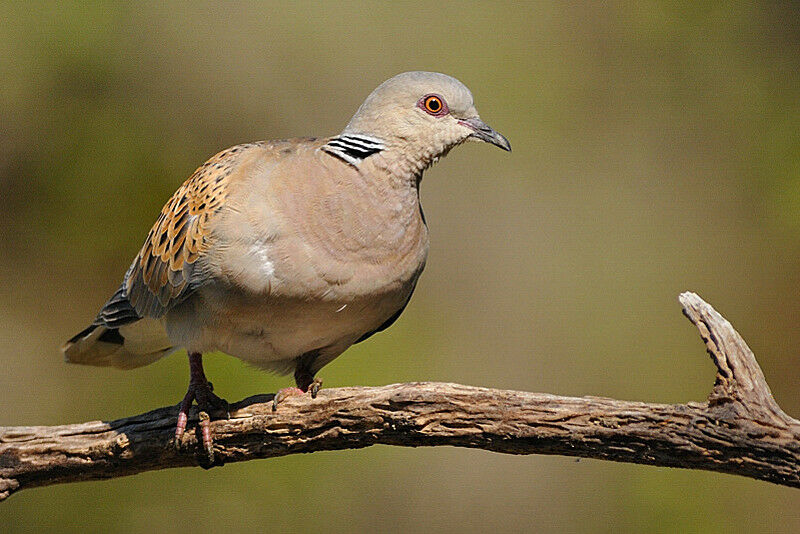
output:
[[[452, 445], [705, 469], [800, 487], [800, 421], [777, 405], [753, 353], [693, 293], [680, 296], [717, 367], [705, 403], [648, 404], [458, 384], [320, 391], [272, 411], [271, 395], [212, 423], [215, 464], [374, 444]], [[20, 489], [98, 480], [208, 460], [197, 431], [171, 446], [175, 407], [117, 421], [0, 427], [0, 500]], [[196, 428], [192, 414], [190, 428]], [[204, 463], [205, 462], [205, 463]]]

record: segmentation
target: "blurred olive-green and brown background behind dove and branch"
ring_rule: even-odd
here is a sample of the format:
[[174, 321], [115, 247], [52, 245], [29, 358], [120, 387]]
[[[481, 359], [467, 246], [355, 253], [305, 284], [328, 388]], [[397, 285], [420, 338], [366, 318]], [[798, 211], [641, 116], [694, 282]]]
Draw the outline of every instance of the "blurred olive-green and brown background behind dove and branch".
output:
[[[513, 154], [430, 170], [431, 254], [398, 323], [328, 387], [442, 380], [702, 400], [693, 290], [800, 415], [800, 10], [749, 2], [3, 3], [0, 425], [175, 404], [185, 357], [123, 372], [58, 347], [162, 204], [230, 145], [335, 134], [406, 70], [466, 83]], [[229, 400], [290, 379], [227, 356]], [[24, 491], [0, 531], [798, 532], [800, 492], [462, 449], [317, 453]]]

